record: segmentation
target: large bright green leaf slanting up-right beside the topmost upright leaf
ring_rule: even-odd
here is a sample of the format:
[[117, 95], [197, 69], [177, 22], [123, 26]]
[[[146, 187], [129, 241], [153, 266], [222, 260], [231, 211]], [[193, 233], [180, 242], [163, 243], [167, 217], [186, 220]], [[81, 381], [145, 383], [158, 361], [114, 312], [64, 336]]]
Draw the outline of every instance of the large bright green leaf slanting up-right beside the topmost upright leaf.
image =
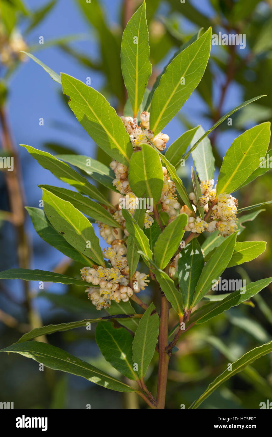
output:
[[162, 75], [150, 109], [150, 129], [155, 135], [172, 120], [200, 83], [210, 56], [210, 42], [211, 28], [177, 55]]

